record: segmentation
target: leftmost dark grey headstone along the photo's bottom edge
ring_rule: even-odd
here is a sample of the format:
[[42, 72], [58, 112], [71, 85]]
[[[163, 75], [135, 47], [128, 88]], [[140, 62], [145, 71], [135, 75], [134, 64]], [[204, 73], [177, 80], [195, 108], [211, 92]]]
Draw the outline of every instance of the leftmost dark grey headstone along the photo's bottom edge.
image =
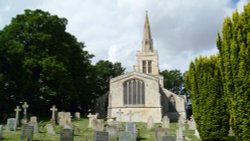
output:
[[33, 140], [33, 126], [29, 126], [27, 124], [22, 126], [21, 129], [21, 140]]

